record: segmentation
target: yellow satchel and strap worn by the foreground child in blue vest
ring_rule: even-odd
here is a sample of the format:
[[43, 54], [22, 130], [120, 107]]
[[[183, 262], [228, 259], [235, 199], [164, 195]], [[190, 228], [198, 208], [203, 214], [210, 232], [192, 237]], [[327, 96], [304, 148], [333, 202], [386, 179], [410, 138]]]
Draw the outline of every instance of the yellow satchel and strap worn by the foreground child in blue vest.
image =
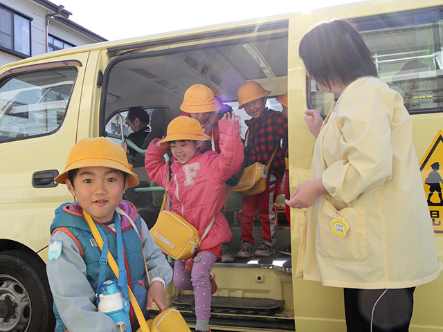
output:
[[[125, 215], [129, 219], [129, 221], [131, 221], [132, 227], [138, 233], [138, 230], [136, 229], [132, 219], [120, 208], [116, 208], [116, 211], [119, 214]], [[96, 239], [99, 248], [102, 249], [103, 239], [100, 235], [100, 232], [98, 232], [96, 223], [94, 223], [91, 216], [87, 214], [87, 212], [84, 210], [83, 210], [83, 216], [84, 219], [86, 219], [89, 228], [91, 228], [93, 237]], [[145, 252], [143, 252], [143, 259], [145, 259], [144, 257], [145, 257]], [[109, 251], [107, 254], [107, 258], [109, 266], [111, 266], [112, 270], [114, 271], [114, 274], [118, 279], [118, 265], [114, 257], [112, 257], [111, 252]], [[146, 264], [145, 264], [145, 271], [146, 271], [147, 282], [148, 284], [151, 284], [149, 275], [147, 274]], [[152, 332], [191, 332], [191, 330], [188, 327], [188, 324], [186, 324], [186, 321], [181, 315], [181, 313], [172, 308], [166, 309], [162, 313], [159, 313], [159, 315], [156, 315], [154, 319], [146, 321], [145, 316], [143, 316], [143, 312], [141, 311], [141, 308], [138, 305], [136, 297], [134, 296], [134, 293], [132, 293], [131, 291], [131, 288], [128, 287], [127, 290], [129, 292], [129, 300], [131, 301], [132, 308], [134, 308], [134, 312], [136, 313], [138, 324], [140, 324], [141, 326], [140, 329], [138, 329], [136, 332], [151, 332], [151, 331]]]

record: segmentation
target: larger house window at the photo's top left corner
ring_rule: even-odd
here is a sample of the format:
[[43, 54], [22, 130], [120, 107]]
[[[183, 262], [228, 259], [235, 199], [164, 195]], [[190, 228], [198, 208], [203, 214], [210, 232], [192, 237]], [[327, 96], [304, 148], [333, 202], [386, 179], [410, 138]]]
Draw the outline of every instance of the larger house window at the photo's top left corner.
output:
[[30, 21], [32, 18], [0, 5], [0, 50], [30, 57]]

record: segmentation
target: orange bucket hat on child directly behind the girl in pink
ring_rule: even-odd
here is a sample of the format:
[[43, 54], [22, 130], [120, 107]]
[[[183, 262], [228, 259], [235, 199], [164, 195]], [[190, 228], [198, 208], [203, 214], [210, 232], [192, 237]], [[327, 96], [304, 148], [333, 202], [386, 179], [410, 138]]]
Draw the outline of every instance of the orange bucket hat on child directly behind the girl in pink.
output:
[[220, 105], [215, 101], [214, 93], [208, 86], [194, 84], [185, 92], [180, 109], [188, 113], [208, 113], [218, 111]]

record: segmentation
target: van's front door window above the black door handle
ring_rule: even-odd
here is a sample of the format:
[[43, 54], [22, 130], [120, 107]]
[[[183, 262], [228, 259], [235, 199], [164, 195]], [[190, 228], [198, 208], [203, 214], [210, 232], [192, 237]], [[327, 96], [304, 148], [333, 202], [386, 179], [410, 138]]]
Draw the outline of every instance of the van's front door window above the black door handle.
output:
[[43, 136], [63, 122], [75, 68], [23, 73], [0, 82], [0, 142]]

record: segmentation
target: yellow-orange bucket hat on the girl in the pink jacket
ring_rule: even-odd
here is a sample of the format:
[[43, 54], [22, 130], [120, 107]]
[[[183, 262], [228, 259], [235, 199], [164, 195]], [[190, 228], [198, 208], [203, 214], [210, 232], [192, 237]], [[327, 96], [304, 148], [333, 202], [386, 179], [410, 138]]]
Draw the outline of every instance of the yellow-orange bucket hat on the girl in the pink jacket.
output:
[[160, 142], [161, 147], [167, 147], [174, 140], [210, 140], [201, 128], [200, 122], [189, 116], [179, 116], [169, 122], [166, 137]]

